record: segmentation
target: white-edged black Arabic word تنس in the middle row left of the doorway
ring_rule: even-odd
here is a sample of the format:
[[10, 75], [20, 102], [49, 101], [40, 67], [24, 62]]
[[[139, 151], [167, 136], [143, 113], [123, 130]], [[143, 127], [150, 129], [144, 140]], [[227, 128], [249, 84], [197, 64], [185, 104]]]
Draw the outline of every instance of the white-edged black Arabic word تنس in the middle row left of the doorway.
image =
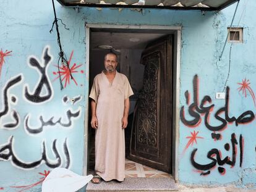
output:
[[36, 133], [40, 133], [41, 131], [43, 131], [43, 127], [46, 127], [46, 126], [54, 126], [56, 124], [59, 124], [61, 125], [62, 127], [70, 127], [72, 125], [72, 120], [71, 118], [72, 117], [79, 117], [79, 114], [80, 114], [80, 110], [77, 111], [77, 112], [74, 112], [72, 113], [70, 110], [68, 110], [66, 112], [67, 114], [67, 119], [69, 120], [67, 123], [63, 123], [61, 122], [61, 117], [56, 121], [56, 122], [53, 122], [53, 118], [54, 117], [51, 117], [49, 120], [45, 121], [43, 119], [42, 116], [40, 116], [40, 122], [41, 122], [41, 127], [39, 128], [30, 128], [30, 126], [28, 125], [28, 121], [29, 121], [29, 114], [25, 117], [25, 130], [27, 130], [29, 133], [33, 133], [33, 134], [36, 134]]

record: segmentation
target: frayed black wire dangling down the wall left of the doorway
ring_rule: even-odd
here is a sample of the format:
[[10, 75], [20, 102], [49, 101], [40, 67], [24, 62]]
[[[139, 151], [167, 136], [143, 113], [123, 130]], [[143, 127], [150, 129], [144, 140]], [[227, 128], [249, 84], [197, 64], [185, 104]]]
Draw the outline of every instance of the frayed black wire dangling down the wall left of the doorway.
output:
[[[49, 32], [51, 33], [51, 31], [53, 31], [53, 27], [55, 24], [56, 31], [57, 31], [58, 45], [59, 45], [59, 59], [58, 59], [59, 83], [61, 84], [61, 90], [63, 90], [63, 85], [62, 85], [62, 80], [61, 80], [61, 72], [59, 71], [59, 62], [61, 62], [61, 67], [67, 67], [69, 69], [70, 78], [73, 79], [73, 77], [72, 77], [72, 73], [69, 68], [69, 62], [67, 62], [66, 54], [64, 53], [64, 51], [62, 50], [62, 47], [61, 47], [61, 38], [59, 36], [59, 25], [58, 25], [58, 20], [61, 20], [61, 19], [57, 18], [55, 6], [54, 6], [54, 0], [52, 0], [52, 1], [53, 1], [53, 11], [54, 11], [54, 22], [53, 22], [53, 26], [51, 27], [51, 30]], [[61, 23], [62, 23], [62, 25], [64, 25], [64, 28], [66, 30], [69, 30], [69, 28], [66, 28], [66, 25], [62, 22], [62, 20], [61, 20]]]

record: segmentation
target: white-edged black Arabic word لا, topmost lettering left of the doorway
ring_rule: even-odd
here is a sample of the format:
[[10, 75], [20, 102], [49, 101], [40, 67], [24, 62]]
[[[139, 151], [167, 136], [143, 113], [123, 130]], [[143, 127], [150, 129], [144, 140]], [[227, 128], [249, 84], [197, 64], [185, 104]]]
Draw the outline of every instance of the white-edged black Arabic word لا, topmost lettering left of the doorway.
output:
[[[36, 67], [39, 72], [41, 73], [41, 79], [35, 89], [35, 93], [30, 94], [28, 93], [28, 87], [25, 86], [25, 98], [27, 98], [29, 101], [32, 102], [44, 102], [47, 101], [48, 99], [51, 98], [52, 95], [52, 90], [51, 90], [51, 86], [49, 84], [49, 80], [48, 77], [46, 76], [46, 67], [49, 64], [49, 61], [51, 61], [51, 56], [49, 56], [48, 54], [48, 48], [45, 49], [45, 51], [43, 52], [44, 56], [44, 67], [41, 67], [40, 63], [36, 60], [36, 58], [30, 58], [29, 60], [29, 64], [32, 67]], [[43, 89], [43, 87], [45, 86], [46, 90], [47, 90], [47, 94], [45, 96], [40, 96], [40, 93]]]

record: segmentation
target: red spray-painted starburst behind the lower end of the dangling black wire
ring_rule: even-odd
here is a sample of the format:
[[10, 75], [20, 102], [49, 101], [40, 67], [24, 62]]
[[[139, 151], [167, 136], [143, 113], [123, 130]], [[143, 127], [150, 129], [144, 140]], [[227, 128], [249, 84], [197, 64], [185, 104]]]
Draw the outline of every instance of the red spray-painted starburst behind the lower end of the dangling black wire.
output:
[[[70, 66], [70, 62], [72, 59], [74, 51], [71, 52], [70, 57], [69, 57], [69, 61], [67, 61], [67, 64]], [[82, 65], [82, 64], [81, 64]], [[81, 65], [77, 65], [77, 64], [73, 64], [72, 67], [70, 67], [70, 71], [69, 71], [69, 67], [66, 67], [64, 65], [62, 65], [61, 67], [59, 67], [59, 71], [57, 72], [53, 72], [54, 75], [58, 75], [58, 77], [54, 78], [53, 81], [55, 81], [56, 79], [58, 79], [59, 77], [61, 77], [61, 81], [65, 81], [64, 84], [64, 88], [66, 88], [67, 83], [70, 83], [70, 72], [73, 73], [78, 73], [78, 71], [76, 69], [78, 69], [79, 67], [81, 67]], [[57, 65], [54, 65], [55, 67], [58, 67]], [[72, 76], [72, 80], [74, 81], [75, 85], [77, 85], [77, 81], [75, 81], [74, 76]]]

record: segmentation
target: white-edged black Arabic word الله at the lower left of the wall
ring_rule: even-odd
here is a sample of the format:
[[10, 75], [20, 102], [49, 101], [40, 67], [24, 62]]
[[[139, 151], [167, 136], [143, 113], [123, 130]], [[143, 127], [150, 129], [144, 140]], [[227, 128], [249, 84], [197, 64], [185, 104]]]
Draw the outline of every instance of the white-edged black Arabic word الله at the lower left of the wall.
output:
[[[13, 143], [14, 140], [14, 136], [11, 136], [9, 143], [5, 144], [4, 146], [0, 147], [0, 160], [11, 160], [15, 165], [17, 165], [18, 167], [22, 167], [23, 169], [31, 169], [34, 167], [37, 167], [38, 165], [41, 164], [41, 162], [45, 162], [45, 164], [48, 167], [51, 168], [55, 168], [55, 167], [59, 167], [61, 166], [61, 156], [59, 155], [58, 149], [56, 148], [56, 141], [53, 141], [53, 152], [54, 152], [54, 156], [56, 157], [56, 162], [54, 163], [50, 163], [48, 160], [48, 157], [46, 155], [46, 148], [45, 148], [45, 141], [43, 141], [42, 147], [43, 147], [43, 152], [42, 152], [42, 156], [41, 159], [35, 162], [30, 162], [30, 163], [25, 163], [20, 161], [20, 159], [18, 159], [18, 157], [15, 156], [14, 151], [13, 151]], [[64, 142], [63, 145], [64, 148], [64, 153], [66, 156], [66, 167], [65, 168], [69, 168], [70, 165], [70, 157], [69, 157], [69, 149], [67, 148], [67, 139]]]

